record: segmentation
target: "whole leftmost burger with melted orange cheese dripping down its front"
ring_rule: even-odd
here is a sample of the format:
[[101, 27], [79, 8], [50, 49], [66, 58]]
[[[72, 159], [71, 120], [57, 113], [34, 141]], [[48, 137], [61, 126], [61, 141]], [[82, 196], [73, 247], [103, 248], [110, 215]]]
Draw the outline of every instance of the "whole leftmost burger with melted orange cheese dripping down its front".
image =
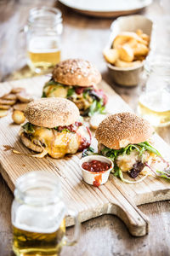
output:
[[91, 134], [79, 119], [77, 106], [63, 98], [43, 98], [30, 102], [25, 110], [28, 122], [21, 126], [20, 139], [27, 148], [59, 159], [88, 148]]

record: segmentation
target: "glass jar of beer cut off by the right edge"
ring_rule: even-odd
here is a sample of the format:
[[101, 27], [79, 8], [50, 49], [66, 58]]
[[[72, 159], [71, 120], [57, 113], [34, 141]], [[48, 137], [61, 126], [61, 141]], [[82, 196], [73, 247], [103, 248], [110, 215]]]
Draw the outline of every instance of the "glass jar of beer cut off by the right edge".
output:
[[150, 55], [139, 84], [138, 113], [151, 125], [170, 125], [170, 55]]

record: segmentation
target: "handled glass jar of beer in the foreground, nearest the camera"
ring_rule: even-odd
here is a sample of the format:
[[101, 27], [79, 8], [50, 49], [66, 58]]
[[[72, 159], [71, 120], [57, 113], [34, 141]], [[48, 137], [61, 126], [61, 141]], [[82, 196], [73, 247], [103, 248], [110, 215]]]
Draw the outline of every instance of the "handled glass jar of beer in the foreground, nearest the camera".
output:
[[[75, 236], [65, 237], [65, 214], [75, 219]], [[12, 204], [13, 250], [17, 256], [58, 256], [79, 236], [77, 214], [67, 212], [58, 178], [48, 172], [28, 172], [18, 178]]]

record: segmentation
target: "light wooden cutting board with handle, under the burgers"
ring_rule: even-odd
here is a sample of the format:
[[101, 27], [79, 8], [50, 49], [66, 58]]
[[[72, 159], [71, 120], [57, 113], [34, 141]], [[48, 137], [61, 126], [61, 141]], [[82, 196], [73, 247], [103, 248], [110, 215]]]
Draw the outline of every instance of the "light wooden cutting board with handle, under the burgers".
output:
[[[14, 87], [26, 87], [26, 90], [37, 97], [42, 94], [42, 86], [48, 76], [32, 79], [22, 79], [5, 84]], [[108, 84], [102, 81], [99, 87], [109, 96], [108, 109], [111, 113], [132, 111], [122, 98], [116, 94]], [[67, 156], [63, 160], [54, 160], [49, 156], [43, 159], [31, 158], [26, 155], [5, 151], [4, 145], [10, 145], [23, 153], [30, 150], [20, 143], [18, 131], [20, 125], [14, 125], [11, 114], [0, 119], [0, 171], [14, 191], [17, 177], [31, 171], [54, 172], [62, 183], [64, 200], [67, 206], [79, 213], [81, 222], [103, 214], [115, 214], [122, 218], [133, 236], [144, 236], [149, 230], [149, 219], [139, 211], [138, 205], [170, 200], [170, 183], [163, 178], [147, 177], [142, 183], [122, 183], [117, 177], [110, 175], [109, 181], [99, 188], [82, 181], [82, 173], [78, 166], [81, 154]], [[170, 148], [161, 137], [154, 135], [156, 148], [168, 160]], [[93, 142], [96, 143], [95, 140]], [[66, 218], [67, 226], [71, 226], [73, 219]]]

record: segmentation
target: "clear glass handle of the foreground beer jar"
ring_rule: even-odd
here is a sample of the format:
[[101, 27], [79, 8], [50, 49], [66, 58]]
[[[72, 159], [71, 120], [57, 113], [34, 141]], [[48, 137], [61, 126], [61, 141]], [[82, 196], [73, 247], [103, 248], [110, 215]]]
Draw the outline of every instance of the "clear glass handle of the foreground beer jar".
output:
[[68, 215], [71, 216], [72, 218], [74, 218], [74, 235], [71, 239], [69, 239], [68, 237], [65, 237], [65, 245], [66, 246], [73, 246], [75, 245], [75, 243], [77, 243], [78, 238], [80, 236], [80, 222], [78, 220], [78, 214], [77, 212], [74, 212], [72, 210], [68, 210]]

